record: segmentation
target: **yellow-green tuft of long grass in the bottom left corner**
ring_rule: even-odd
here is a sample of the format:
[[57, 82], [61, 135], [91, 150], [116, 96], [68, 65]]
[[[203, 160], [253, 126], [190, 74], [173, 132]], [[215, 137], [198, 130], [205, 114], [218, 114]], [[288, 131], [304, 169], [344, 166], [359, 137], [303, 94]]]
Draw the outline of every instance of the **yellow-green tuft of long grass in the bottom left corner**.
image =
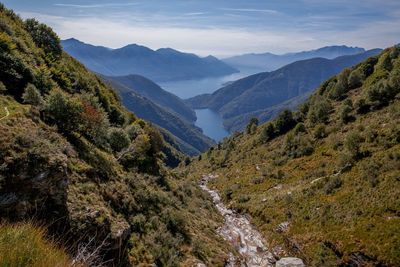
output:
[[45, 236], [43, 228], [30, 223], [0, 225], [0, 266], [71, 266], [67, 253]]

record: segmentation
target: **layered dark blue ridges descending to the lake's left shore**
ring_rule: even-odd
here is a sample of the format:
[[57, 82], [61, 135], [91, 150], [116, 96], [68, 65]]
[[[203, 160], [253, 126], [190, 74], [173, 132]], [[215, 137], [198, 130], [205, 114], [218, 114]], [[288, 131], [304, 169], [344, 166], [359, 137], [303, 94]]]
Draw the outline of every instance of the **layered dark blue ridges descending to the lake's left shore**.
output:
[[199, 154], [214, 144], [194, 125], [193, 110], [149, 79], [139, 75], [102, 78], [118, 92], [129, 111], [161, 127], [164, 134], [172, 135], [169, 138], [174, 139], [185, 154]]

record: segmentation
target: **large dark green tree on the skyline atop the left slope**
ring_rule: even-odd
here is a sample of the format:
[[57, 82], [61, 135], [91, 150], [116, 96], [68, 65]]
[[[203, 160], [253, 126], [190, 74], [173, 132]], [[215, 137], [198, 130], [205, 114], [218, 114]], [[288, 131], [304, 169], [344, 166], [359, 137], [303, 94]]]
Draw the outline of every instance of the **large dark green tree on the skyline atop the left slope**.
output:
[[35, 19], [27, 19], [25, 28], [31, 34], [35, 44], [46, 53], [57, 59], [62, 54], [60, 39], [57, 34], [47, 25], [39, 23]]

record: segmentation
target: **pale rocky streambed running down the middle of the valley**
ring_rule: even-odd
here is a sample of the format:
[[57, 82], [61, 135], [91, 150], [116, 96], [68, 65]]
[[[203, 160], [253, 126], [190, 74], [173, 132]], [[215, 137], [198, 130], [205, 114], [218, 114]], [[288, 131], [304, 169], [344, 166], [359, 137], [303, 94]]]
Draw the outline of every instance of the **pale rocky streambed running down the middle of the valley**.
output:
[[[293, 266], [304, 267], [301, 259], [283, 258], [276, 261], [276, 257], [268, 250], [260, 232], [250, 223], [249, 219], [227, 208], [221, 200], [218, 191], [208, 188], [208, 181], [216, 178], [214, 175], [204, 175], [200, 180], [200, 188], [208, 192], [217, 210], [224, 217], [224, 225], [218, 229], [218, 233], [241, 255], [238, 259], [231, 255], [227, 266], [230, 267], [267, 267], [267, 266]], [[286, 263], [281, 265], [281, 263]]]

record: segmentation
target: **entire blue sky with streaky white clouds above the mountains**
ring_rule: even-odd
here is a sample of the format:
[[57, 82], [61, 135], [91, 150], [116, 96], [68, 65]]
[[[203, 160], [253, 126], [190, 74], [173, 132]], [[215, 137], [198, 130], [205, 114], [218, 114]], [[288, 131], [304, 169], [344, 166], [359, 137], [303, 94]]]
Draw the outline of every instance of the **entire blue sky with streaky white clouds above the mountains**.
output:
[[1, 0], [60, 38], [201, 56], [400, 42], [400, 0]]

